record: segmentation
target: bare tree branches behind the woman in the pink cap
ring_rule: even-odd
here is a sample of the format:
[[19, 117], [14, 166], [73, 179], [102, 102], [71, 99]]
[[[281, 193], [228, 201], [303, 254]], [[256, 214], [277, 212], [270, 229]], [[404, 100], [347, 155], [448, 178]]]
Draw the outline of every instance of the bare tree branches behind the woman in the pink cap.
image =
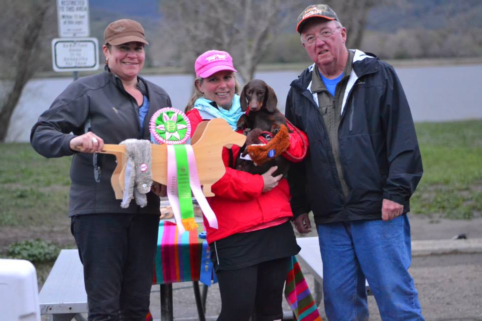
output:
[[[260, 60], [290, 21], [300, 1], [160, 1], [163, 30], [169, 30], [184, 66], [206, 50], [228, 51], [243, 81], [253, 78]], [[192, 70], [192, 67], [191, 67]]]

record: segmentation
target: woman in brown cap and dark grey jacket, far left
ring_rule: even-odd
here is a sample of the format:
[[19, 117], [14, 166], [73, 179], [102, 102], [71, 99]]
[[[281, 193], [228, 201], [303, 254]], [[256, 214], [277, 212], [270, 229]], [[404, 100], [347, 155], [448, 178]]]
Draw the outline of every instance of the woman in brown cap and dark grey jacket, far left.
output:
[[[139, 76], [148, 45], [141, 24], [121, 19], [104, 32], [102, 73], [71, 83], [32, 128], [32, 146], [46, 157], [73, 155], [71, 231], [84, 266], [89, 320], [145, 320], [153, 280], [160, 186], [147, 204], [121, 207], [110, 177], [115, 157], [103, 144], [150, 139], [149, 119], [170, 107], [168, 94]], [[153, 193], [155, 192], [155, 193]]]

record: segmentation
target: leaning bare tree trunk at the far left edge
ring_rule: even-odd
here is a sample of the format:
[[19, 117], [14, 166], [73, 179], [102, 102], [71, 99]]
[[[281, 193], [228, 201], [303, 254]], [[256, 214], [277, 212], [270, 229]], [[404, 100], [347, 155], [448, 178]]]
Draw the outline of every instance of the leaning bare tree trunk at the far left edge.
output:
[[27, 81], [39, 66], [39, 40], [49, 8], [47, 1], [0, 0], [3, 15], [0, 30], [0, 141], [5, 141], [10, 118]]

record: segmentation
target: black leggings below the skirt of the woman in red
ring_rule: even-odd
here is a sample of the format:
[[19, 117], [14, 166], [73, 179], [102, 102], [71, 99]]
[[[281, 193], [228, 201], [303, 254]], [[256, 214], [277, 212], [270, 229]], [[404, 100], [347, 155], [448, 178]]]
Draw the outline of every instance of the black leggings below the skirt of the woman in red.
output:
[[218, 321], [273, 321], [283, 317], [283, 286], [289, 257], [216, 272], [221, 294]]

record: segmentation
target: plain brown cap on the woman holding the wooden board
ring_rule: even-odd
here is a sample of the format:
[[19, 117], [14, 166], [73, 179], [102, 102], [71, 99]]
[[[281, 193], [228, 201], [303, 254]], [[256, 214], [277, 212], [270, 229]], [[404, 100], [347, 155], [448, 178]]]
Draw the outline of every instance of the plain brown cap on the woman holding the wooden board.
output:
[[117, 46], [132, 41], [149, 45], [144, 39], [144, 28], [137, 21], [130, 19], [116, 20], [105, 28], [104, 44]]

